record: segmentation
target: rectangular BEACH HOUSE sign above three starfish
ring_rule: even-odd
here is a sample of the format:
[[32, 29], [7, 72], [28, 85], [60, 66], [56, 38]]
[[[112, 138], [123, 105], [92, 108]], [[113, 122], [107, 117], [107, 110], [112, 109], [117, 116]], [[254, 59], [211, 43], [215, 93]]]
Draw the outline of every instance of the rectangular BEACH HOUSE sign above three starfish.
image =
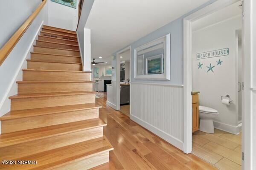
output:
[[229, 48], [223, 48], [219, 50], [198, 53], [196, 54], [196, 59], [206, 59], [206, 58], [212, 58], [212, 57], [227, 56], [228, 54], [229, 54]]

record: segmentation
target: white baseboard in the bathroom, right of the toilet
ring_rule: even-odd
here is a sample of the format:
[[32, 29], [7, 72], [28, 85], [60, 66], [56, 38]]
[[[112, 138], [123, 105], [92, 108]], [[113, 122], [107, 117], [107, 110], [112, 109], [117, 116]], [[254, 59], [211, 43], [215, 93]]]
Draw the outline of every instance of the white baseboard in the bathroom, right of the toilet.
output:
[[225, 123], [213, 121], [213, 124], [214, 124], [214, 128], [219, 129], [219, 130], [223, 130], [223, 131], [235, 134], [235, 135], [238, 135], [241, 132], [241, 129], [242, 129], [242, 124], [241, 123], [237, 126], [232, 126], [232, 125], [227, 125]]

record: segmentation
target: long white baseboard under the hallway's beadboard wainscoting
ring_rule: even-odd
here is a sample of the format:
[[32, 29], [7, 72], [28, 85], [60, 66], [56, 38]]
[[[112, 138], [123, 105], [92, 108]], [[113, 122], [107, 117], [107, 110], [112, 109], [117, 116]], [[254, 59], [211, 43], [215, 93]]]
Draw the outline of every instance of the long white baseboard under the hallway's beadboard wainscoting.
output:
[[156, 134], [160, 138], [166, 140], [167, 142], [174, 145], [175, 147], [179, 148], [180, 150], [183, 150], [183, 142], [180, 141], [179, 139], [171, 136], [170, 134], [164, 132], [163, 130], [158, 129], [157, 127], [150, 125], [149, 123], [141, 120], [140, 118], [138, 118], [134, 115], [130, 114], [130, 119], [133, 120], [134, 122], [140, 124], [141, 126], [145, 127], [147, 130]]

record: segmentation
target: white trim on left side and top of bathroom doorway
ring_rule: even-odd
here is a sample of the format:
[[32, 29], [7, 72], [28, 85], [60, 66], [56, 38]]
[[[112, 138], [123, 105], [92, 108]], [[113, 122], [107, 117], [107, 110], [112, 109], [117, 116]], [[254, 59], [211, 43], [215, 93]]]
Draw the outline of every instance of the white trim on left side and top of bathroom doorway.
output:
[[184, 153], [192, 151], [192, 22], [239, 0], [217, 0], [183, 19]]

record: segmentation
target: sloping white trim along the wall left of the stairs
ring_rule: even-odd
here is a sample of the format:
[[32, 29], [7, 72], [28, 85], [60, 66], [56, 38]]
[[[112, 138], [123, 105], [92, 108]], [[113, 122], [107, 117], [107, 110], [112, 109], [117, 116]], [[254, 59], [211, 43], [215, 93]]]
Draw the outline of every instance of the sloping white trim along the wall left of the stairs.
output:
[[36, 40], [36, 38], [37, 38], [37, 36], [38, 36], [38, 34], [39, 34], [39, 32], [40, 32], [40, 30], [41, 30], [43, 24], [44, 24], [44, 21], [41, 22], [41, 25], [39, 26], [38, 30], [36, 31], [36, 34], [34, 35], [34, 37], [33, 37], [32, 41], [31, 41], [31, 43], [29, 44], [29, 48], [27, 49], [25, 55], [23, 56], [23, 62], [20, 62], [19, 69], [17, 69], [17, 72], [15, 73], [15, 76], [13, 77], [12, 82], [11, 82], [10, 85], [9, 85], [9, 88], [7, 89], [7, 91], [6, 91], [6, 93], [5, 93], [5, 95], [4, 95], [3, 99], [2, 99], [2, 101], [0, 102], [0, 108], [2, 108], [2, 106], [3, 106], [3, 104], [4, 104], [5, 100], [6, 100], [6, 98], [8, 97], [9, 92], [10, 92], [10, 90], [11, 90], [11, 88], [12, 88], [12, 85], [15, 83], [16, 78], [17, 78], [17, 75], [20, 73], [21, 68], [22, 68], [22, 65], [23, 65], [24, 61], [26, 60], [26, 57], [27, 57], [28, 54], [30, 53], [30, 49], [32, 48], [32, 45], [33, 45], [33, 43], [35, 42], [35, 40]]

